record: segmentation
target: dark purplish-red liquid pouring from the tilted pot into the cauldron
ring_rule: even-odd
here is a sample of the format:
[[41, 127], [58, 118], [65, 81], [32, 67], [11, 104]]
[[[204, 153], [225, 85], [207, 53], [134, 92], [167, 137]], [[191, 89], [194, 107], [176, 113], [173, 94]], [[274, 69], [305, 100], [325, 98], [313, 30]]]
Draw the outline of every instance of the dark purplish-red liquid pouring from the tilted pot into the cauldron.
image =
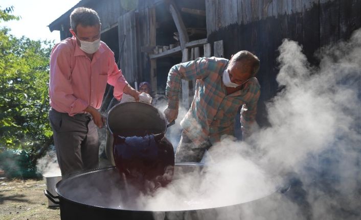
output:
[[114, 134], [113, 155], [122, 177], [138, 186], [154, 189], [173, 177], [174, 151], [164, 133], [122, 131]]

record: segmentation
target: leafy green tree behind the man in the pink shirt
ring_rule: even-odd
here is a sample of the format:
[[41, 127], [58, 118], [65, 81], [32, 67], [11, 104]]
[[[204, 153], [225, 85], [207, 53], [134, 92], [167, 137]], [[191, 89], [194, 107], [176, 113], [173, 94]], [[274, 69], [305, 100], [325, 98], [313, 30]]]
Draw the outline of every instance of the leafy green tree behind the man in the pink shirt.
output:
[[[0, 23], [19, 19], [2, 10]], [[0, 153], [26, 150], [36, 163], [52, 142], [48, 121], [49, 58], [54, 42], [17, 38], [0, 29]]]

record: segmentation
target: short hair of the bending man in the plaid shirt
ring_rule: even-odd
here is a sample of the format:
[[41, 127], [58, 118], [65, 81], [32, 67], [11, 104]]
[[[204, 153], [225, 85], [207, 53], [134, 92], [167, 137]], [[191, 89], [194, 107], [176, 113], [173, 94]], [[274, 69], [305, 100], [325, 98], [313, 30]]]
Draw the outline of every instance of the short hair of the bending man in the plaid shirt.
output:
[[252, 54], [249, 51], [239, 51], [237, 54], [233, 55], [233, 57], [230, 60], [230, 66], [233, 66], [236, 64], [236, 62], [242, 61], [245, 65], [248, 65], [251, 67], [251, 76], [256, 76], [260, 61], [258, 57], [256, 57], [254, 54]]

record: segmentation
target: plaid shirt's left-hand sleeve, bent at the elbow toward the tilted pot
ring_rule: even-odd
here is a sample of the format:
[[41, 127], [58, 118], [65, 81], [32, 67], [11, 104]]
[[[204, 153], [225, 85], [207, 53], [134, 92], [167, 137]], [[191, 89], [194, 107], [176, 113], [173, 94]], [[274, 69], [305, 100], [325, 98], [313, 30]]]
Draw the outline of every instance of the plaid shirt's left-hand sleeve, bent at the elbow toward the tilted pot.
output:
[[178, 107], [179, 92], [181, 91], [182, 80], [204, 79], [208, 76], [208, 58], [197, 58], [194, 61], [174, 65], [168, 74], [166, 96], [168, 107]]

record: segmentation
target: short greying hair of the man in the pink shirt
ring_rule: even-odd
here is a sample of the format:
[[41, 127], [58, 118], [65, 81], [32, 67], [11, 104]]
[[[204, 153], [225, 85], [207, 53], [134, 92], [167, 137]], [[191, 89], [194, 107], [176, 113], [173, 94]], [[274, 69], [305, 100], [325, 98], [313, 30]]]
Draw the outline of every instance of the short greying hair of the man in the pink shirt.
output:
[[93, 9], [80, 7], [74, 9], [70, 14], [70, 27], [74, 30], [75, 33], [77, 32], [76, 28], [78, 25], [87, 27], [100, 24], [101, 23], [98, 13]]

